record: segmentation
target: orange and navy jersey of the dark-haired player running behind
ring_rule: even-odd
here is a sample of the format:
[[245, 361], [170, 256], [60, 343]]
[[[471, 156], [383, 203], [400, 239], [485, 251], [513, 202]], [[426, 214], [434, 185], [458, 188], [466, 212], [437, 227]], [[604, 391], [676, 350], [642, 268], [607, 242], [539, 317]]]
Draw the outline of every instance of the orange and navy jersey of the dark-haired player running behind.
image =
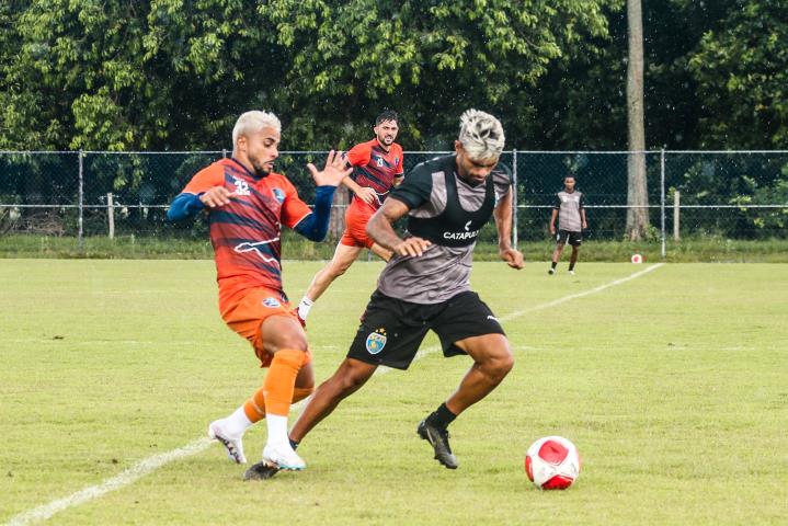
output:
[[363, 205], [372, 207], [373, 210], [380, 208], [380, 205], [393, 187], [395, 179], [404, 174], [402, 168], [402, 147], [392, 142], [389, 151], [386, 151], [378, 142], [378, 139], [358, 144], [347, 151], [347, 161], [354, 167], [353, 180], [359, 186], [373, 188], [378, 194], [378, 203], [367, 205], [353, 196], [351, 206]]

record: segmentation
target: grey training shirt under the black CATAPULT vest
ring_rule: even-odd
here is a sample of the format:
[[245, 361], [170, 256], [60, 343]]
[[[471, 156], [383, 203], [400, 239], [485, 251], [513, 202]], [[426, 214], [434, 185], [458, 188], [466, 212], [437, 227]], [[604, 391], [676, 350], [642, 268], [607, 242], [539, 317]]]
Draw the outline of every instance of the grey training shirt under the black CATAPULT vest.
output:
[[[446, 172], [450, 171], [462, 210], [478, 210], [484, 203], [487, 185], [469, 185], [459, 179], [456, 169], [455, 156], [423, 162], [391, 192], [390, 198], [408, 205], [411, 216], [437, 218], [446, 208]], [[493, 178], [498, 204], [501, 197], [510, 192], [511, 176], [509, 170], [500, 164], [489, 176]], [[395, 254], [380, 273], [378, 290], [386, 296], [412, 304], [439, 304], [470, 290], [473, 247], [476, 241], [467, 247], [432, 244], [420, 256]]]

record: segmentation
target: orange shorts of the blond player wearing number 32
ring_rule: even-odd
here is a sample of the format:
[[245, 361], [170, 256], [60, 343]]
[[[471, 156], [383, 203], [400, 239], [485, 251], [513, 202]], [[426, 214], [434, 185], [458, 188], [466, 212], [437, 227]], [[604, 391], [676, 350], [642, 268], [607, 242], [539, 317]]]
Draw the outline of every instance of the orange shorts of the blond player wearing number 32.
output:
[[[220, 310], [225, 323], [252, 344], [254, 354], [262, 362], [261, 367], [270, 366], [273, 358], [263, 348], [263, 322], [271, 316], [288, 316], [298, 320], [290, 304], [283, 301], [279, 293], [267, 288], [250, 288], [235, 301], [221, 305]], [[311, 361], [312, 354], [307, 350], [301, 366]]]

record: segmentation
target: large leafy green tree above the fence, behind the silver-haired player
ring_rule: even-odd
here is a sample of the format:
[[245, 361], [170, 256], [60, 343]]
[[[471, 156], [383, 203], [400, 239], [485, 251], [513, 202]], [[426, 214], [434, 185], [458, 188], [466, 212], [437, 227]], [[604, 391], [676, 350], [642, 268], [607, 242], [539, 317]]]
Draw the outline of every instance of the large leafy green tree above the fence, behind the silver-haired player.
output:
[[[368, 135], [389, 106], [403, 114], [410, 147], [445, 149], [470, 106], [501, 115], [509, 146], [521, 147], [535, 133], [536, 81], [568, 49], [607, 34], [608, 3], [279, 0], [260, 11], [292, 57], [284, 87], [299, 142], [338, 124], [357, 139], [365, 123]], [[321, 118], [338, 111], [339, 123]]]

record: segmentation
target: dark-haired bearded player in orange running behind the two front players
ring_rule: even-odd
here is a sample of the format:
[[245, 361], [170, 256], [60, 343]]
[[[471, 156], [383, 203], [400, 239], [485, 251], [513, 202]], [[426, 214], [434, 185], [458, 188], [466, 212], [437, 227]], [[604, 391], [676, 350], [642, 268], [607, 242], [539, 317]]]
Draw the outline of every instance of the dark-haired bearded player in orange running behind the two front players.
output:
[[342, 183], [353, 191], [353, 199], [345, 211], [345, 231], [336, 245], [333, 259], [321, 268], [298, 304], [298, 318], [306, 324], [309, 309], [334, 279], [351, 267], [358, 253], [367, 248], [388, 261], [391, 251], [373, 241], [365, 229], [369, 218], [382, 205], [391, 188], [404, 173], [402, 147], [395, 142], [399, 132], [399, 116], [390, 110], [375, 119], [375, 138], [354, 146], [347, 151], [347, 163], [354, 168], [353, 176]]

